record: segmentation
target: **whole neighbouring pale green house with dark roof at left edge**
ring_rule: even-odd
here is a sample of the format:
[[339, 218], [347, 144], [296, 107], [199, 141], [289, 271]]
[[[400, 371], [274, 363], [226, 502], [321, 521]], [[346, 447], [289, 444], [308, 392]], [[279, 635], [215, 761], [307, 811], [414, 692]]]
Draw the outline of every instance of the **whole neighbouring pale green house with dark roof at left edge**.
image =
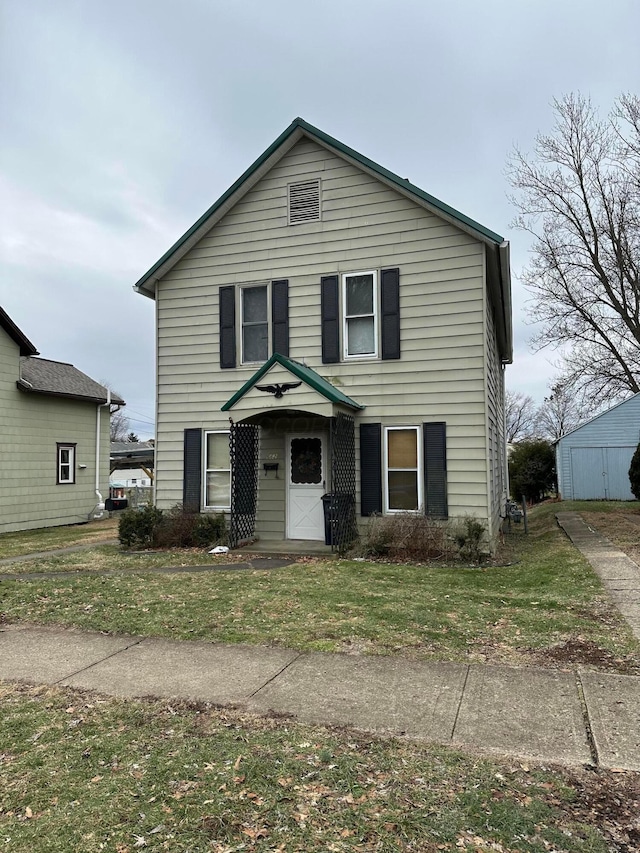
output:
[[0, 308], [0, 533], [88, 521], [108, 496], [109, 409], [124, 401], [37, 355]]

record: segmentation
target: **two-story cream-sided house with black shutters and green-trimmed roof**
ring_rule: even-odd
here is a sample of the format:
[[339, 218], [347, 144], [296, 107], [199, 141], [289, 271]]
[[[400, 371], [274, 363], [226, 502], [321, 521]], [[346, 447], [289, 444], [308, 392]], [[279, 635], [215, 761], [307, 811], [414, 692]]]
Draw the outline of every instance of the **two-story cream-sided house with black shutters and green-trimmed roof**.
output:
[[[296, 119], [138, 281], [156, 300], [156, 500], [231, 539], [339, 543], [506, 497], [502, 237]], [[330, 497], [325, 498], [323, 495]]]

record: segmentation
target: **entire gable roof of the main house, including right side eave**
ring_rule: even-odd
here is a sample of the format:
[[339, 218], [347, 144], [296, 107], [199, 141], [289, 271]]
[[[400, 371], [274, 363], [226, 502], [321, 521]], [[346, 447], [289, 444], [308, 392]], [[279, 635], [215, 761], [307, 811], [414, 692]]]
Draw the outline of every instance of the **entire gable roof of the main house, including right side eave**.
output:
[[324, 148], [328, 148], [342, 159], [375, 176], [387, 186], [411, 198], [420, 206], [452, 223], [488, 247], [488, 285], [496, 311], [496, 333], [500, 356], [503, 362], [510, 363], [513, 357], [513, 341], [508, 242], [495, 231], [491, 231], [474, 219], [465, 216], [459, 210], [421, 190], [407, 178], [401, 178], [389, 169], [385, 169], [384, 166], [370, 160], [355, 149], [349, 148], [348, 145], [344, 145], [301, 118], [296, 118], [291, 122], [289, 127], [249, 166], [246, 172], [136, 282], [134, 289], [138, 293], [154, 299], [157, 282], [303, 137], [308, 137]]

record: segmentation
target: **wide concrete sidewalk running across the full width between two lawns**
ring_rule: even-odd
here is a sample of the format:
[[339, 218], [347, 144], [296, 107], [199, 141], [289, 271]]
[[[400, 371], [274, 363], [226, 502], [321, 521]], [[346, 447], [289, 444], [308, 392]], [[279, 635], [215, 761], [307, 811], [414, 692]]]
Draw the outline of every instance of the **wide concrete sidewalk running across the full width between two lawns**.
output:
[[0, 679], [290, 714], [481, 752], [640, 771], [640, 678], [301, 654], [5, 625]]

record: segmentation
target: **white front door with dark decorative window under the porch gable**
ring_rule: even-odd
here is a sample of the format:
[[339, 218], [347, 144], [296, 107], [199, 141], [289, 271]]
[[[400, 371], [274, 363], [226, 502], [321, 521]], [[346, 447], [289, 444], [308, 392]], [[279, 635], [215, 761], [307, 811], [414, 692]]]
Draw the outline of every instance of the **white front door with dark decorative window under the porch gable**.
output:
[[287, 437], [287, 538], [324, 540], [326, 436]]

